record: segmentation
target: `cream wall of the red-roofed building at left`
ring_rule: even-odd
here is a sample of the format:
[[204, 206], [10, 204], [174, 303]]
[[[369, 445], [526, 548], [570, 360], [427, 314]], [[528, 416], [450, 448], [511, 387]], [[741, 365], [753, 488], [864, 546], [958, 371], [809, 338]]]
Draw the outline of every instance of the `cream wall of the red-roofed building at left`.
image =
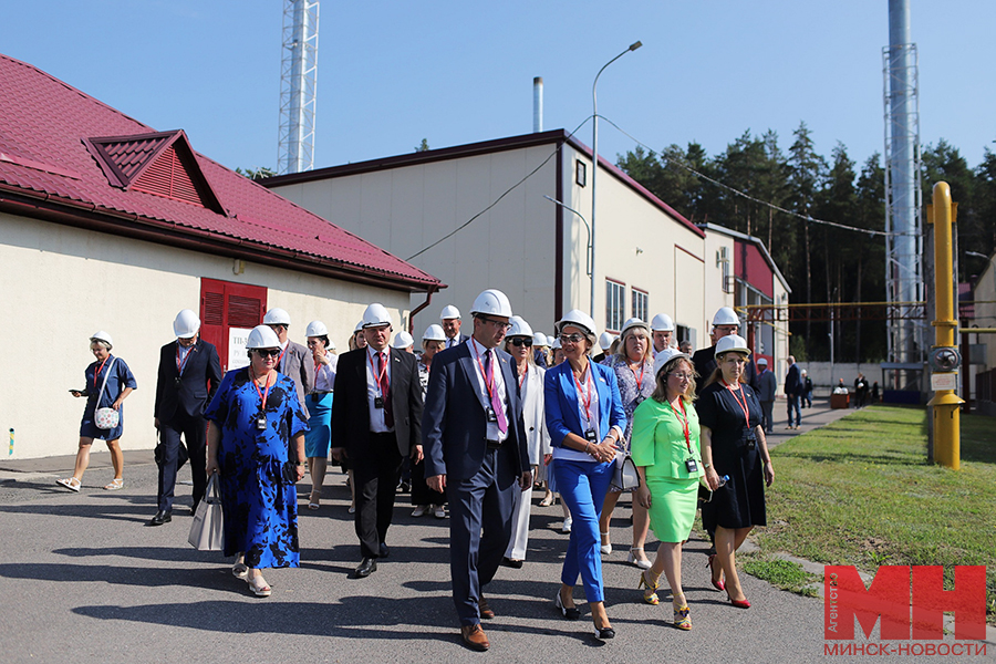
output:
[[248, 261], [237, 276], [231, 259], [3, 214], [0, 264], [8, 315], [0, 343], [20, 359], [0, 382], [0, 427], [14, 429], [12, 459], [75, 453], [85, 402], [68, 391], [83, 387], [93, 362], [89, 338], [101, 329], [138, 383], [125, 402], [122, 447], [154, 447], [159, 349], [174, 339], [180, 309], [200, 310], [201, 277], [267, 287], [268, 305], [291, 317], [291, 339], [303, 343], [304, 326], [319, 319], [339, 352], [369, 302], [381, 301], [398, 322], [408, 312], [400, 291]]

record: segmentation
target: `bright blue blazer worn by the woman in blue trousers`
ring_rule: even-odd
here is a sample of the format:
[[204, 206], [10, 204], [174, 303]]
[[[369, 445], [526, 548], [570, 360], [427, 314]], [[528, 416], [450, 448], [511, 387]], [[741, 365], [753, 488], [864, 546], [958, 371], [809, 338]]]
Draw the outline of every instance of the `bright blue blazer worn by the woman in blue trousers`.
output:
[[[599, 393], [599, 440], [609, 435], [609, 429], [618, 426], [626, 429], [626, 412], [619, 396], [619, 382], [615, 372], [608, 366], [595, 364], [589, 359], [595, 391]], [[574, 386], [574, 374], [569, 362], [562, 362], [547, 370], [543, 384], [544, 407], [547, 411], [547, 430], [550, 443], [560, 447], [568, 434], [584, 437], [581, 428], [581, 413], [578, 409], [578, 388]]]

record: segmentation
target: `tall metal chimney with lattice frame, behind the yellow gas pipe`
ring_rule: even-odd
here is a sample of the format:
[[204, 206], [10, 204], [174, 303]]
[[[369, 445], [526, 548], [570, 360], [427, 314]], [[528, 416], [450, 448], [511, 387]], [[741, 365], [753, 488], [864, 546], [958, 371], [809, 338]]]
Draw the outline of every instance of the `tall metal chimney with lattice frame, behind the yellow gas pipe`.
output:
[[916, 44], [910, 42], [909, 0], [889, 2], [885, 77], [885, 281], [890, 303], [889, 359], [923, 360], [924, 299], [920, 92]]

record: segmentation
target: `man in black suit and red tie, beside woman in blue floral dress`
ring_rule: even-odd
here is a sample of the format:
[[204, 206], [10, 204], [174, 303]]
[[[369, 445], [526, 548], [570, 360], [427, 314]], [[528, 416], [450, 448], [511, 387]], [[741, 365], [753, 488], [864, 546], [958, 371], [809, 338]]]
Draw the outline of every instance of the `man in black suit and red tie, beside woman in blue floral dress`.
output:
[[369, 577], [390, 550], [385, 539], [394, 511], [402, 460], [422, 460], [422, 384], [415, 355], [392, 349], [391, 317], [378, 303], [363, 313], [366, 347], [339, 359], [332, 401], [332, 456], [353, 465], [356, 537]]

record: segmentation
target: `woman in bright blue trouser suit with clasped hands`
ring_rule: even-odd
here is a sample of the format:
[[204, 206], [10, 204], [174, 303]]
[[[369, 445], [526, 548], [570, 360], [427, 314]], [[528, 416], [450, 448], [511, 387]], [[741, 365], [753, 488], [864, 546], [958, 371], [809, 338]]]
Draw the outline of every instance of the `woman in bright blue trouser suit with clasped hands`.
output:
[[553, 445], [553, 479], [574, 519], [554, 603], [564, 618], [578, 620], [572, 596], [578, 574], [591, 605], [595, 636], [612, 639], [602, 589], [599, 516], [612, 480], [615, 454], [626, 427], [615, 372], [591, 362], [594, 321], [573, 310], [557, 323], [564, 362], [543, 382], [547, 430]]

